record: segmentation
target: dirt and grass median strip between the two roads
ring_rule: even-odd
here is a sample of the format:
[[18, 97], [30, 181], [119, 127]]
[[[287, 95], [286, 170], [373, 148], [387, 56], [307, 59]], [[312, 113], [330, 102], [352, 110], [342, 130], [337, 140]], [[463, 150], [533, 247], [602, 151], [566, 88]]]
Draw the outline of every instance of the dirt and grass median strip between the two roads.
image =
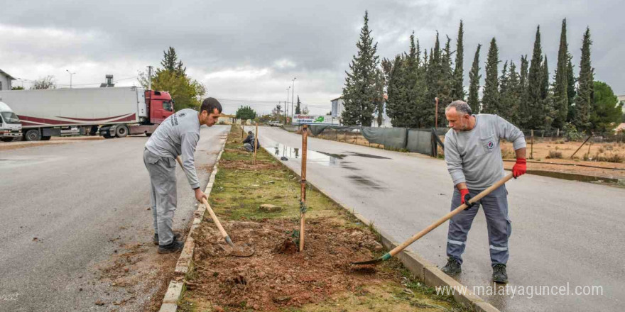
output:
[[384, 239], [312, 186], [306, 245], [298, 252], [298, 175], [264, 150], [251, 166], [239, 137], [234, 133], [225, 146], [209, 199], [232, 240], [254, 245], [256, 254], [228, 255], [205, 218], [191, 235], [195, 269], [186, 274], [178, 311], [465, 311], [415, 279], [399, 260], [350, 266], [382, 255]]

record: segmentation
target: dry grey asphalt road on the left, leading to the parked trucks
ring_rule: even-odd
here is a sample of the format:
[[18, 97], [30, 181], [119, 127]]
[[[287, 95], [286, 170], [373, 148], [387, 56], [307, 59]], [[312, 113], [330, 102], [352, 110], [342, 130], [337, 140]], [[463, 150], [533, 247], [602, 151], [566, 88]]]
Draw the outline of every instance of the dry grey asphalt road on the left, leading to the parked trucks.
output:
[[[206, 186], [228, 126], [202, 127], [196, 167]], [[158, 261], [144, 136], [0, 150], [0, 311], [141, 311], [147, 293], [99, 279], [99, 267], [124, 243], [142, 243]], [[200, 169], [203, 168], [203, 169]], [[177, 169], [174, 227], [188, 228], [196, 201]], [[163, 255], [165, 257], [174, 255]], [[177, 257], [177, 255], [175, 255]], [[138, 258], [140, 259], [140, 258]], [[173, 268], [172, 268], [173, 270]], [[155, 272], [156, 274], [156, 272]], [[96, 301], [107, 304], [97, 306]]]

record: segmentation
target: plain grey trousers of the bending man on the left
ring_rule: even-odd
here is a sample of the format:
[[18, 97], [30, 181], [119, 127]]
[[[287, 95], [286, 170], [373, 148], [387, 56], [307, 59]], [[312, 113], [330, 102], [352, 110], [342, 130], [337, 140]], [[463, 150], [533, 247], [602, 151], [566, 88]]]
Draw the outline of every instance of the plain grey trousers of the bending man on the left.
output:
[[158, 234], [158, 245], [169, 245], [173, 241], [173, 213], [178, 200], [176, 161], [173, 158], [158, 156], [146, 149], [143, 151], [143, 163], [150, 174], [150, 204], [154, 217], [154, 233]]

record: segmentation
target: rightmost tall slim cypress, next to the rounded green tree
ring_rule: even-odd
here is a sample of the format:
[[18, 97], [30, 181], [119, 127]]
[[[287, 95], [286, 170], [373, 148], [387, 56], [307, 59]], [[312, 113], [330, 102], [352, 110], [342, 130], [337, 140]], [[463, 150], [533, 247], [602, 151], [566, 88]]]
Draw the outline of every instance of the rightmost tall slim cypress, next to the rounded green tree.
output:
[[580, 60], [580, 77], [577, 79], [577, 97], [575, 98], [575, 126], [578, 130], [589, 130], [590, 110], [592, 108], [592, 91], [594, 74], [590, 64], [590, 29], [586, 28], [582, 40], [582, 60]]

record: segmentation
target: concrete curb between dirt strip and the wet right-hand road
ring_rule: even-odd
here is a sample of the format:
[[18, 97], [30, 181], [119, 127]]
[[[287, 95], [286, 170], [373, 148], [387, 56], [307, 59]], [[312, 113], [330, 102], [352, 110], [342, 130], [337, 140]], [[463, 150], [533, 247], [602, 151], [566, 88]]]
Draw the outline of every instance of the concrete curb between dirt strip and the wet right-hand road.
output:
[[[293, 174], [300, 177], [301, 179], [300, 173], [295, 172], [295, 170], [285, 165], [280, 160], [280, 158], [278, 158], [276, 155], [273, 155], [269, 151], [267, 152], [269, 155], [276, 158], [276, 160], [278, 160], [278, 162], [280, 162], [280, 164], [283, 165], [283, 167], [288, 169], [290, 172], [293, 172]], [[363, 224], [369, 225], [372, 228], [374, 228], [374, 230], [376, 230], [376, 232], [379, 233], [380, 238], [381, 238], [381, 243], [386, 248], [386, 250], [392, 250], [394, 247], [397, 247], [398, 245], [401, 244], [401, 243], [396, 243], [396, 240], [391, 235], [388, 235], [388, 233], [384, 232], [384, 230], [377, 228], [374, 225], [374, 223], [369, 221], [360, 213], [357, 213], [356, 211], [354, 211], [353, 208], [350, 209], [347, 205], [343, 204], [341, 201], [338, 201], [337, 199], [330, 196], [330, 194], [327, 191], [325, 191], [325, 189], [322, 189], [319, 186], [315, 186], [311, 184], [310, 181], [307, 181], [306, 183], [309, 186], [311, 186], [313, 189], [320, 191], [320, 193], [324, 194], [325, 196], [327, 196], [327, 198], [334, 201], [335, 204], [341, 206], [346, 211], [351, 213], [354, 217], [356, 217]], [[408, 271], [410, 271], [412, 274], [414, 274], [415, 277], [423, 281], [423, 283], [427, 286], [430, 286], [430, 287], [447, 286], [447, 287], [450, 287], [450, 289], [464, 289], [464, 286], [462, 284], [457, 282], [455, 279], [452, 279], [452, 277], [448, 276], [447, 274], [443, 273], [437, 266], [435, 266], [428, 260], [425, 260], [423, 257], [416, 254], [415, 252], [411, 252], [409, 250], [403, 250], [402, 252], [399, 252], [396, 255], [396, 257], [408, 269]], [[499, 312], [499, 309], [495, 308], [490, 303], [487, 303], [479, 296], [473, 294], [472, 291], [469, 291], [468, 289], [465, 294], [455, 293], [453, 297], [455, 301], [457, 301], [458, 303], [462, 304], [463, 306], [467, 308], [473, 309], [474, 311]]]

